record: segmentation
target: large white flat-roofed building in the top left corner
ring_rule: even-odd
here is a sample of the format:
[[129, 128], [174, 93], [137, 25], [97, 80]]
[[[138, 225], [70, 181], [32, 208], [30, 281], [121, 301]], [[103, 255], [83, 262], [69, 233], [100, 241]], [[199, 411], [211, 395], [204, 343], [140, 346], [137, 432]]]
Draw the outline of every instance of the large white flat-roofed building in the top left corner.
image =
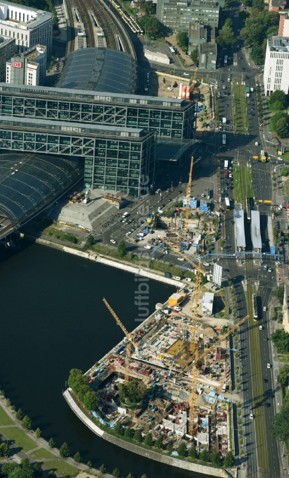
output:
[[22, 52], [41, 44], [47, 46], [47, 54], [51, 54], [52, 21], [50, 11], [0, 1], [0, 35], [15, 38]]

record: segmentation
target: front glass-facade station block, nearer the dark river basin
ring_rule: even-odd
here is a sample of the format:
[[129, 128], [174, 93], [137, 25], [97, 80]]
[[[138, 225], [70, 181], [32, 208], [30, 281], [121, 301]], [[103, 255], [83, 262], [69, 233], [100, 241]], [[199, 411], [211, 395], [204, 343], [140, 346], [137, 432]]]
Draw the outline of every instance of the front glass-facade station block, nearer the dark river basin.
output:
[[85, 158], [86, 187], [139, 196], [155, 173], [155, 137], [139, 128], [0, 116], [0, 150]]

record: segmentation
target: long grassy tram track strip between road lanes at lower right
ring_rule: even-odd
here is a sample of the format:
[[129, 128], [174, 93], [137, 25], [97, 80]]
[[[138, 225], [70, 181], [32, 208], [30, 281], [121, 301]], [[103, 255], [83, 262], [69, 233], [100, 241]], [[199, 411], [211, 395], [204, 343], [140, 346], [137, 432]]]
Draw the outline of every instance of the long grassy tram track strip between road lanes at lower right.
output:
[[269, 468], [268, 460], [268, 442], [267, 430], [264, 415], [263, 403], [263, 380], [261, 372], [261, 355], [258, 326], [253, 320], [253, 305], [252, 294], [255, 293], [255, 288], [252, 285], [247, 286], [246, 300], [249, 325], [249, 344], [250, 344], [250, 359], [251, 359], [251, 377], [252, 377], [252, 394], [253, 406], [255, 415], [255, 430], [256, 430], [256, 449], [258, 466], [262, 468]]

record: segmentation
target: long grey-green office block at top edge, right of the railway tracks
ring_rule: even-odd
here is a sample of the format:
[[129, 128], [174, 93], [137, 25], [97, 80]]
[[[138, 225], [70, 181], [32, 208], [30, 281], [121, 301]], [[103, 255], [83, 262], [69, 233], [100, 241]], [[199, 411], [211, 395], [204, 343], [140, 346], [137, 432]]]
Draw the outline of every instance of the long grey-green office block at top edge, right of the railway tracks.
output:
[[190, 23], [203, 22], [213, 27], [218, 26], [220, 7], [223, 0], [196, 0], [179, 2], [177, 0], [158, 0], [157, 18], [170, 27], [173, 33], [187, 32]]

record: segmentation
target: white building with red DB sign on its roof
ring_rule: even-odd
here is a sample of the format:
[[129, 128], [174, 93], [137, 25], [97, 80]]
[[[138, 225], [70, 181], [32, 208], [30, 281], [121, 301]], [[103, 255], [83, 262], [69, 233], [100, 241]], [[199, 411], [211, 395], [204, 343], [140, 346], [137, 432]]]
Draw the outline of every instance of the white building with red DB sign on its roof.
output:
[[47, 48], [36, 45], [6, 62], [6, 83], [43, 85], [46, 72]]

